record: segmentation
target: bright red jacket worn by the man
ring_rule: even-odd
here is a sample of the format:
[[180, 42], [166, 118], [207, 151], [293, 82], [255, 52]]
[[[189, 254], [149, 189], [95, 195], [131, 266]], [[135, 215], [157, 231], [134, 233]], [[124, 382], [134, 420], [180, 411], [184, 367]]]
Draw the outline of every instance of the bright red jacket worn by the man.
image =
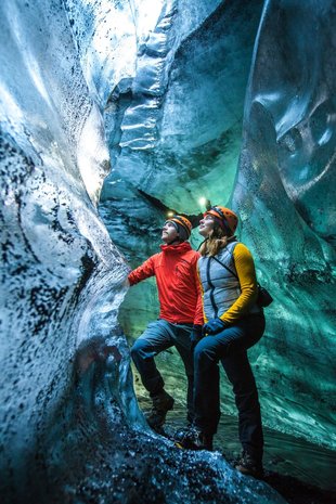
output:
[[189, 242], [160, 245], [160, 248], [159, 254], [150, 257], [128, 275], [130, 285], [155, 275], [159, 318], [171, 323], [203, 324], [196, 269], [199, 254], [192, 249]]

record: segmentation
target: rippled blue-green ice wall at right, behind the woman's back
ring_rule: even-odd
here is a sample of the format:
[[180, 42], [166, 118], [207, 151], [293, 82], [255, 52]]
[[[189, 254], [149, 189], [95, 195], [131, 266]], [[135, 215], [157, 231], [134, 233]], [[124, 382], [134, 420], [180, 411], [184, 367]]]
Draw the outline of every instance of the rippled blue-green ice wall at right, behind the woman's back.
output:
[[270, 425], [335, 447], [335, 10], [267, 2], [233, 205], [275, 302], [253, 352]]

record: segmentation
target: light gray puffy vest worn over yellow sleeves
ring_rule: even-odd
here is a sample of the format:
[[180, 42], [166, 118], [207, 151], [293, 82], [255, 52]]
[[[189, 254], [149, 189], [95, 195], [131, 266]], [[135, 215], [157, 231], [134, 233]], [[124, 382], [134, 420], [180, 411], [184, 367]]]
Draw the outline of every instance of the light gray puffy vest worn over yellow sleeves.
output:
[[[233, 249], [236, 245], [237, 242], [230, 243], [218, 253], [216, 258], [202, 256], [198, 259], [199, 277], [204, 290], [203, 306], [208, 320], [221, 316], [241, 296], [241, 285], [233, 259]], [[249, 313], [259, 312], [257, 305], [249, 309]]]

